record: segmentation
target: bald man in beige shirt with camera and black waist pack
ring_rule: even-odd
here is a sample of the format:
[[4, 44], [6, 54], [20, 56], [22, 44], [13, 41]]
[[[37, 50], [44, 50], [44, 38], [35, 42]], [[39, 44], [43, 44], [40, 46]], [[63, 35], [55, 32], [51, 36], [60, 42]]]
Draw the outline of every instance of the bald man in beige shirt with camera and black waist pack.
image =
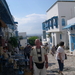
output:
[[46, 68], [48, 68], [46, 50], [40, 45], [39, 39], [35, 40], [35, 45], [30, 53], [30, 69], [32, 69], [33, 61], [34, 75], [46, 75]]

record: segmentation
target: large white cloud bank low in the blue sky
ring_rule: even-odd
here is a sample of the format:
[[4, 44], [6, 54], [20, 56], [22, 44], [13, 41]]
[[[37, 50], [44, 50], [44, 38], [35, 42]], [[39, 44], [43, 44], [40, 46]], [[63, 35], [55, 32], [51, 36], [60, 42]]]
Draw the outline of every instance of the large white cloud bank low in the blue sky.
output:
[[30, 14], [23, 18], [15, 17], [18, 22], [18, 31], [26, 32], [27, 34], [41, 34], [42, 22], [46, 19], [45, 14]]

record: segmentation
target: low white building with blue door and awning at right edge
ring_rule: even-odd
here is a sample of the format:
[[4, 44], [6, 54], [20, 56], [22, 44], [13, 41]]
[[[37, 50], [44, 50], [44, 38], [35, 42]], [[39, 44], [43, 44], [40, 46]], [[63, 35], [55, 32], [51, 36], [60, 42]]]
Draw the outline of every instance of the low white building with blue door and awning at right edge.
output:
[[69, 37], [70, 52], [75, 55], [75, 17], [67, 21], [67, 26], [63, 29], [67, 29]]

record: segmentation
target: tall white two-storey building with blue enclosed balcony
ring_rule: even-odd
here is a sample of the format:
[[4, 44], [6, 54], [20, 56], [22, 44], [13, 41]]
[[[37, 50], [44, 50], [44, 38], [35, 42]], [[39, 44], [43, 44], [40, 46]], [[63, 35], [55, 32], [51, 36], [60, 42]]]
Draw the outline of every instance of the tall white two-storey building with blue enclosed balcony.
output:
[[[50, 44], [57, 45], [60, 41], [69, 45], [67, 30], [62, 28], [67, 25], [67, 20], [75, 16], [75, 1], [57, 1], [47, 10], [47, 20], [42, 23], [43, 31], [51, 33]], [[45, 34], [44, 34], [45, 35]]]

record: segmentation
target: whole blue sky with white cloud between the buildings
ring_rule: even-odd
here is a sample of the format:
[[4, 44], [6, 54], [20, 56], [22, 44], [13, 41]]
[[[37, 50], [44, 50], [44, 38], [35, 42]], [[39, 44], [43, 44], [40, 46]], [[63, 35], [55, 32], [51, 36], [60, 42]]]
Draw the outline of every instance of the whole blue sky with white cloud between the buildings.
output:
[[16, 22], [18, 31], [27, 35], [42, 34], [42, 22], [46, 11], [57, 0], [6, 0]]

